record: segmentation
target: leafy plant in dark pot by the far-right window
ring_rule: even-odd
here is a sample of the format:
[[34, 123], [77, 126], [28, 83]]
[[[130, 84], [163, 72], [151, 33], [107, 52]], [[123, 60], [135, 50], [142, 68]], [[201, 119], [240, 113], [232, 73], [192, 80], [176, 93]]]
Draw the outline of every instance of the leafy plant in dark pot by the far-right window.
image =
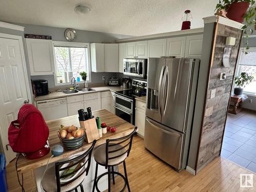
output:
[[240, 76], [234, 77], [234, 83], [237, 85], [237, 88], [234, 88], [235, 95], [243, 94], [243, 87], [246, 84], [249, 84], [253, 80], [252, 76], [249, 76], [248, 73], [242, 72]]

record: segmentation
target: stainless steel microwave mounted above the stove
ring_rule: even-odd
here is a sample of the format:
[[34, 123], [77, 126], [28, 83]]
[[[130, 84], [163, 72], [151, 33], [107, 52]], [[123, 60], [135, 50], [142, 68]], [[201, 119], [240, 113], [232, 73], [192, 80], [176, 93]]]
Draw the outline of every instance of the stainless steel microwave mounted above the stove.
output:
[[123, 59], [123, 74], [146, 79], [146, 59]]

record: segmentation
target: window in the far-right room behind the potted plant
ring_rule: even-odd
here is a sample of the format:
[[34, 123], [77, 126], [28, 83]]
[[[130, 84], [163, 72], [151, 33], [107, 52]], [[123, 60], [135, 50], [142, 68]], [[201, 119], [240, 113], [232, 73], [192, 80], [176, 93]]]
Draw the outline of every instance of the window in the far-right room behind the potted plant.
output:
[[241, 48], [237, 75], [246, 72], [248, 75], [254, 77], [252, 82], [245, 86], [244, 92], [256, 96], [256, 48], [250, 48], [248, 54], [244, 52], [245, 49]]

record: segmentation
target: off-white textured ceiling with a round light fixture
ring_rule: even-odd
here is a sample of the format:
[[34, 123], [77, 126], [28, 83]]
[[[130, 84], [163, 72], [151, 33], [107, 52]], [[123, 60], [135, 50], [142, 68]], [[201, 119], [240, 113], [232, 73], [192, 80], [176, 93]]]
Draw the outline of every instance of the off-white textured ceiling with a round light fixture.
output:
[[[0, 0], [0, 20], [61, 28], [148, 35], [181, 29], [186, 9], [193, 15], [191, 28], [203, 27], [202, 17], [214, 14], [218, 0]], [[86, 4], [86, 15], [74, 7]]]

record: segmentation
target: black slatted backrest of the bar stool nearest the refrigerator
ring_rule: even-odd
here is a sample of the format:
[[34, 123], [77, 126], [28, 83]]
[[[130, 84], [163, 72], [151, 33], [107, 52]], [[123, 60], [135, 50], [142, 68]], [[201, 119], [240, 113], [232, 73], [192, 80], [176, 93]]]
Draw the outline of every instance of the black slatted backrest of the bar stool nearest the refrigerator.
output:
[[106, 165], [108, 168], [109, 160], [116, 159], [127, 153], [127, 157], [130, 154], [133, 142], [133, 136], [136, 133], [138, 127], [136, 126], [132, 133], [117, 139], [106, 139]]

